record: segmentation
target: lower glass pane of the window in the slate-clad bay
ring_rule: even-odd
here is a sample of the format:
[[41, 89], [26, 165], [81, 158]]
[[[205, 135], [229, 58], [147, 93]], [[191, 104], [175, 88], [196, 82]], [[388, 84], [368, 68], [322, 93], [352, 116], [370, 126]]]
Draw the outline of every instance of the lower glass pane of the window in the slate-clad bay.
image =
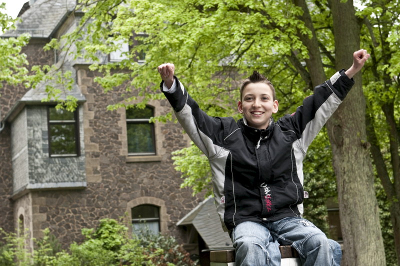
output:
[[76, 154], [75, 125], [50, 124], [51, 154]]

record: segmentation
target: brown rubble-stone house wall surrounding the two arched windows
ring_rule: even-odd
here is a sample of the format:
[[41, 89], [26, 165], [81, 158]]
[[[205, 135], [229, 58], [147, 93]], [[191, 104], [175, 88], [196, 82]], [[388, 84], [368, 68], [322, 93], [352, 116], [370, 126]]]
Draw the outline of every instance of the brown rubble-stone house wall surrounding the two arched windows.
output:
[[[33, 220], [33, 236], [40, 236], [37, 226], [49, 227], [66, 247], [71, 241], [82, 240], [81, 228], [94, 227], [101, 218], [118, 218], [125, 211], [130, 216], [130, 208], [144, 202], [160, 206], [161, 231], [182, 242], [183, 230], [175, 224], [203, 199], [202, 195], [192, 197], [190, 189], [179, 187], [182, 179], [172, 165], [170, 153], [187, 146], [188, 137], [182, 135], [179, 124], [156, 123], [158, 158], [129, 162], [125, 111], [106, 110], [108, 104], [123, 100], [123, 87], [104, 93], [93, 82], [97, 73], [84, 68], [77, 71], [78, 85], [87, 100], [83, 104], [87, 187], [32, 192], [32, 202], [35, 197], [42, 203], [38, 205], [38, 220]], [[155, 115], [171, 109], [165, 99], [149, 104], [155, 108]], [[34, 216], [34, 210], [32, 213]]]

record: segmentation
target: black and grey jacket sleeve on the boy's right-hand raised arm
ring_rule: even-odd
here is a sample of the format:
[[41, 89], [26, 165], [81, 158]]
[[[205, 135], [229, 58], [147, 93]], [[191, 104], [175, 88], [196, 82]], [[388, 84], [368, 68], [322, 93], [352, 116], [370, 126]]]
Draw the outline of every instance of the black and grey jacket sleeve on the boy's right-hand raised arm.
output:
[[344, 72], [344, 69], [341, 69], [330, 79], [316, 86], [314, 94], [306, 97], [303, 104], [288, 117], [304, 154], [354, 84], [354, 79], [349, 79]]

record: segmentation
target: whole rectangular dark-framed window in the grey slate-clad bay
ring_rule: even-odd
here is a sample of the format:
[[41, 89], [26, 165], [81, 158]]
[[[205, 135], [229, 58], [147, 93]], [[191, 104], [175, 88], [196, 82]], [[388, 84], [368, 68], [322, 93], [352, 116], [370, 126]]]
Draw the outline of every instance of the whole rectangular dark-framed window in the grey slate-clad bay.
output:
[[47, 108], [48, 153], [50, 157], [79, 156], [79, 131], [76, 110]]

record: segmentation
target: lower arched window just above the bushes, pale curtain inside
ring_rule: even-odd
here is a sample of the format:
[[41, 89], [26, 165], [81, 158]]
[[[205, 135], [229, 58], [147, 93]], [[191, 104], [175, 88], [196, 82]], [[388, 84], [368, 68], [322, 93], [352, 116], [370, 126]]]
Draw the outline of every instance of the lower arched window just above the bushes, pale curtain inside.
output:
[[152, 232], [159, 232], [159, 207], [143, 204], [132, 208], [133, 230], [140, 229], [145, 225], [147, 225]]

